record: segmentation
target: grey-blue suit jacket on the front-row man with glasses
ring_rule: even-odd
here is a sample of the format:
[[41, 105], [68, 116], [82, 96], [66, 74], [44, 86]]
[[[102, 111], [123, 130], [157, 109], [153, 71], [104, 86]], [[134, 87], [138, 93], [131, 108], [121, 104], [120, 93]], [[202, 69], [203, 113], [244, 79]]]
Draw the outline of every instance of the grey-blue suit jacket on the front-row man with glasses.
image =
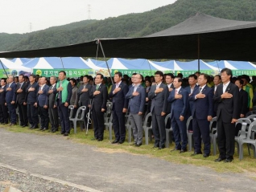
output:
[[133, 96], [134, 88], [130, 88], [129, 92], [126, 94], [126, 99], [129, 100], [129, 111], [130, 113], [137, 114], [138, 112], [144, 112], [145, 102], [146, 102], [146, 92], [145, 88], [140, 84], [136, 89], [138, 96]]

